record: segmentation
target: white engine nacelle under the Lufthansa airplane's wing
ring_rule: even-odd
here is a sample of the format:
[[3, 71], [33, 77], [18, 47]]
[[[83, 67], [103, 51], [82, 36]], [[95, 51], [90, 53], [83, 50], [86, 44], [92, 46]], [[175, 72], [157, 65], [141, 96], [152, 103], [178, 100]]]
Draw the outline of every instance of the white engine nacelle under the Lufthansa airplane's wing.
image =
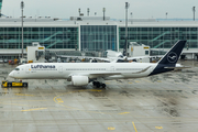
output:
[[72, 76], [72, 84], [74, 86], [85, 86], [89, 84], [89, 78], [87, 76]]

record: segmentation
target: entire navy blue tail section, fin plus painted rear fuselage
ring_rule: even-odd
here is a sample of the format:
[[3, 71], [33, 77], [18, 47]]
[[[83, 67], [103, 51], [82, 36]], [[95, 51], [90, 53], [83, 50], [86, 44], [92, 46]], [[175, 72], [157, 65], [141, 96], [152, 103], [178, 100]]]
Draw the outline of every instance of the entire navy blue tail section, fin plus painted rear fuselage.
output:
[[175, 67], [186, 42], [187, 41], [177, 41], [176, 44], [169, 50], [169, 52], [167, 52], [164, 57], [158, 61], [158, 65], [150, 75], [173, 70], [174, 68], [168, 69], [165, 67]]

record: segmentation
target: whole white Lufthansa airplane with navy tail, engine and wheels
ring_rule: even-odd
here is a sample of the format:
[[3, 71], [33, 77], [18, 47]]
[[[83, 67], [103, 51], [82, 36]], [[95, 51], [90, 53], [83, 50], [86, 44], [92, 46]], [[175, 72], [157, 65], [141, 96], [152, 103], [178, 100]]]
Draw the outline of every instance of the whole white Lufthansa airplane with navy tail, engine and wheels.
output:
[[16, 79], [67, 79], [73, 86], [92, 82], [105, 88], [105, 80], [148, 77], [186, 67], [176, 63], [186, 44], [177, 41], [157, 63], [33, 63], [18, 66], [9, 76]]

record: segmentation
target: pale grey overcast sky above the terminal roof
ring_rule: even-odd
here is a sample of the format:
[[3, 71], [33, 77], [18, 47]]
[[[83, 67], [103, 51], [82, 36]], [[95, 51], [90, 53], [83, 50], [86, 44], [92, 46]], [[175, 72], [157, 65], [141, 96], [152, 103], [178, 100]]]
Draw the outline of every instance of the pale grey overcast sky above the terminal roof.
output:
[[[130, 3], [130, 13], [133, 18], [180, 18], [193, 19], [193, 7], [198, 8], [198, 0], [24, 0], [24, 15], [26, 16], [53, 16], [69, 19], [77, 16], [78, 9], [87, 15], [87, 8], [90, 9], [90, 15], [102, 15], [102, 8], [106, 8], [106, 15], [111, 19], [124, 19], [125, 2]], [[9, 16], [19, 18], [21, 15], [21, 0], [3, 0], [2, 13]], [[198, 9], [197, 9], [198, 10]], [[196, 13], [198, 18], [198, 13]]]

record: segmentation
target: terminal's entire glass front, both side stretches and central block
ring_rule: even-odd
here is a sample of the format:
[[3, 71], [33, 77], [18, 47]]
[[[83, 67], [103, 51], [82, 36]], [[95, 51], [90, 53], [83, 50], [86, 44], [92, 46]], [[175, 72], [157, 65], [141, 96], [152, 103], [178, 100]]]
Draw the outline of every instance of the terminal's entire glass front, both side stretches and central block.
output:
[[[24, 48], [40, 42], [46, 48], [79, 48], [81, 51], [106, 51], [123, 48], [125, 28], [119, 25], [80, 25], [76, 28], [24, 28]], [[189, 25], [190, 26], [190, 25]], [[139, 42], [152, 48], [169, 48], [177, 40], [187, 40], [189, 48], [198, 48], [198, 28], [129, 28], [129, 42]], [[80, 40], [78, 34], [80, 34]], [[119, 38], [118, 38], [119, 37]], [[117, 42], [119, 40], [119, 43]], [[0, 26], [0, 50], [21, 48], [21, 28]]]

